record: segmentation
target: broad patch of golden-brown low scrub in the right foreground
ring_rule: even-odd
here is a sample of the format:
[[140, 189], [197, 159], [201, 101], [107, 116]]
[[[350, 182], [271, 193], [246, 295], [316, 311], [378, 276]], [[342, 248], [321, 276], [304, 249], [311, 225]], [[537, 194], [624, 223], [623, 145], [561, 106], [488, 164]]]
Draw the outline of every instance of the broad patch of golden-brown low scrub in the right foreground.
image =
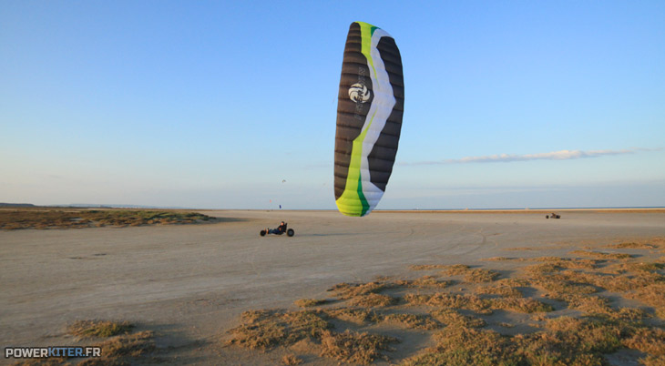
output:
[[[602, 248], [615, 251], [487, 260], [515, 262], [508, 278], [485, 266], [435, 263], [409, 267], [435, 272], [415, 279], [340, 283], [330, 289], [336, 308], [310, 310], [300, 321], [305, 310], [255, 310], [243, 314], [230, 343], [269, 350], [307, 338], [310, 354], [368, 364], [390, 360], [390, 344], [415, 331], [430, 345], [410, 345], [390, 362], [600, 366], [610, 353], [635, 350], [627, 356], [634, 363], [663, 364], [665, 260], [635, 253], [663, 249], [665, 240]], [[639, 305], [619, 306], [618, 298]]]

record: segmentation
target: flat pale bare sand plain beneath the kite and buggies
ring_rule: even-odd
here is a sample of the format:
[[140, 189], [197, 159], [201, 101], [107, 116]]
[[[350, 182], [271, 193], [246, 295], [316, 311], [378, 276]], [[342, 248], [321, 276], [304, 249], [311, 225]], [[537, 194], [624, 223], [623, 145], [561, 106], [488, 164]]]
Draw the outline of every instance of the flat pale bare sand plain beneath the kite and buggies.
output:
[[[0, 231], [0, 344], [71, 345], [65, 328], [74, 320], [129, 320], [157, 332], [158, 356], [170, 363], [278, 364], [279, 352], [224, 346], [243, 310], [295, 309], [294, 300], [325, 298], [340, 282], [410, 277], [414, 264], [516, 255], [506, 249], [565, 256], [665, 236], [662, 210], [557, 212], [561, 219], [545, 219], [545, 211], [379, 211], [355, 219], [226, 210], [204, 212], [224, 218], [215, 224]], [[293, 238], [259, 236], [280, 220]]]

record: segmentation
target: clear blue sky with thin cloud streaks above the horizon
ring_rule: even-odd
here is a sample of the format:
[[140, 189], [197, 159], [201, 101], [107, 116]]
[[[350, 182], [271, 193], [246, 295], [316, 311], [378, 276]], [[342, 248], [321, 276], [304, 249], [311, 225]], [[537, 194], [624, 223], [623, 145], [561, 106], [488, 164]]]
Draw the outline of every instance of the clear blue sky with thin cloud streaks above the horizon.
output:
[[359, 20], [404, 63], [378, 209], [665, 206], [662, 1], [0, 10], [0, 202], [335, 208], [337, 88]]

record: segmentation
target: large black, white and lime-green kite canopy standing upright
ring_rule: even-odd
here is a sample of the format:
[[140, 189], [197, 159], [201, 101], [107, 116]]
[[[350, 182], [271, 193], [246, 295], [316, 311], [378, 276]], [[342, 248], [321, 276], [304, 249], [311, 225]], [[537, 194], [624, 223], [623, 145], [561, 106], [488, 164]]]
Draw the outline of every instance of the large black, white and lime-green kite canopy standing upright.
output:
[[354, 22], [346, 37], [337, 102], [335, 202], [369, 214], [384, 196], [404, 113], [402, 57], [383, 29]]

